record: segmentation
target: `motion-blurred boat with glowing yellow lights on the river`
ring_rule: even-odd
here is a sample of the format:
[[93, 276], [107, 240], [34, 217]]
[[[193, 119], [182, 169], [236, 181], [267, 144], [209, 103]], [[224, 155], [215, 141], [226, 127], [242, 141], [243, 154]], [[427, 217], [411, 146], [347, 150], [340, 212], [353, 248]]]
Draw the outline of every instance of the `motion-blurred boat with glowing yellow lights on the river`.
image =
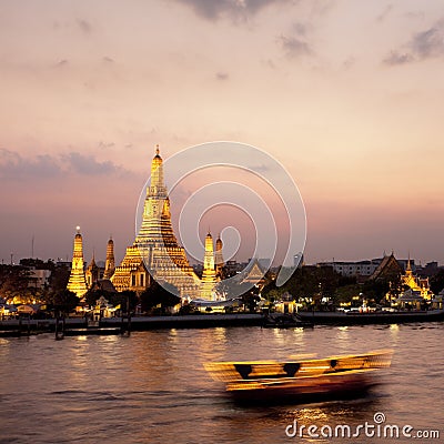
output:
[[315, 402], [356, 397], [380, 383], [376, 375], [392, 362], [392, 350], [287, 362], [214, 362], [204, 364], [215, 381], [240, 402]]

